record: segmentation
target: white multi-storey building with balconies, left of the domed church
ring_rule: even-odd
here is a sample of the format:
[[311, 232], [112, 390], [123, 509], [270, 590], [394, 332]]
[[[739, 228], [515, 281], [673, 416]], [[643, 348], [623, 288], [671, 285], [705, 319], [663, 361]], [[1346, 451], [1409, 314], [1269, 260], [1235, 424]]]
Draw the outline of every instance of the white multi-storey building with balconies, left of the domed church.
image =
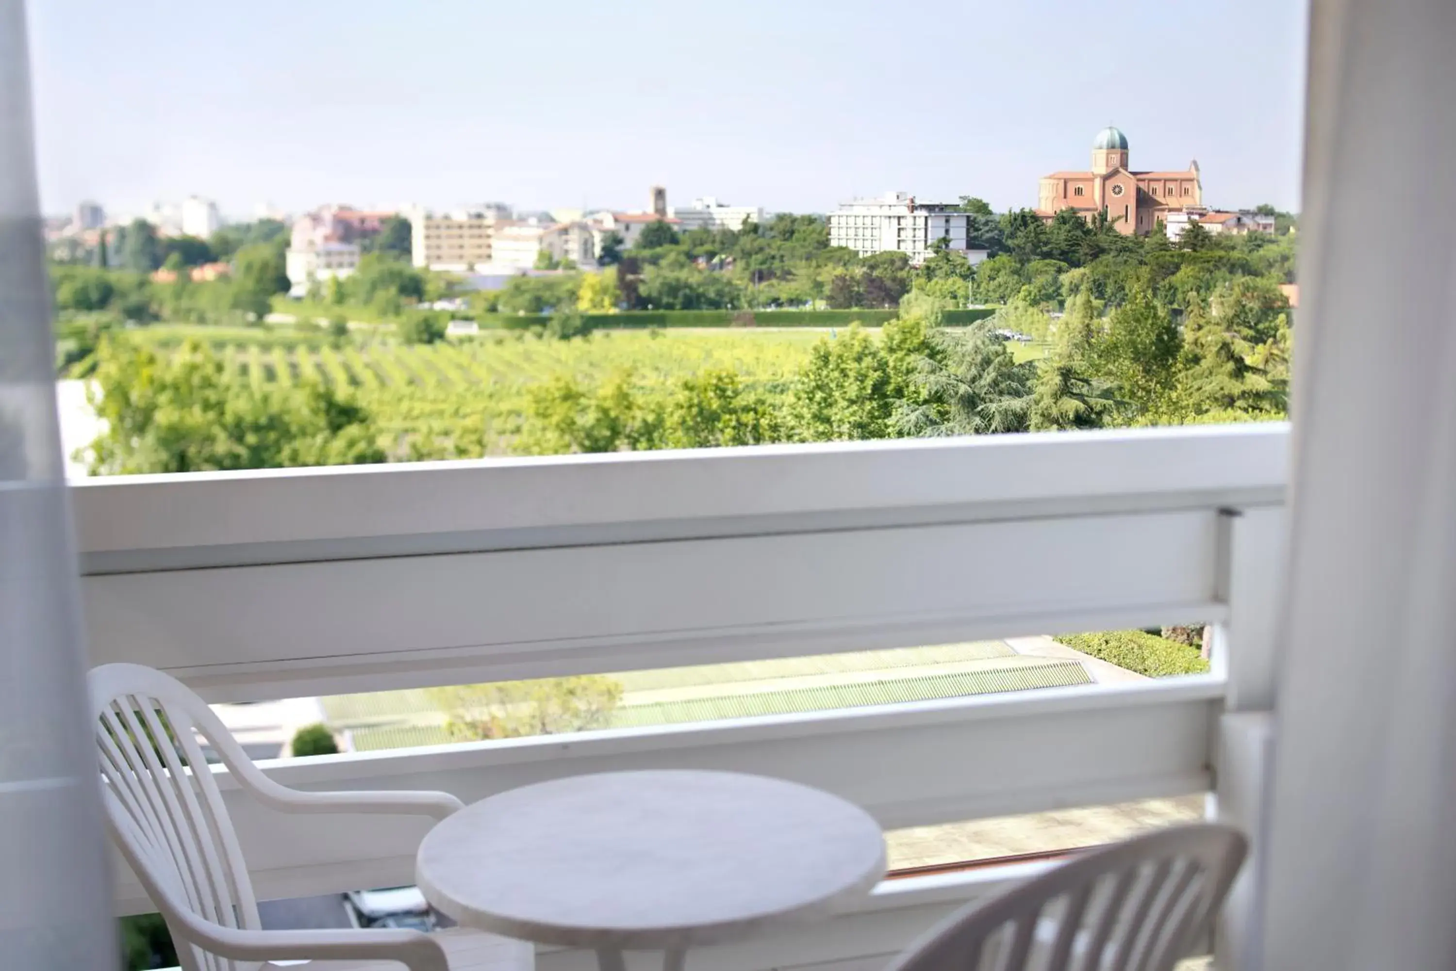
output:
[[907, 192], [887, 192], [874, 199], [843, 202], [828, 214], [828, 245], [860, 256], [900, 250], [922, 263], [939, 239], [965, 253], [971, 263], [986, 259], [984, 249], [967, 249], [968, 215], [948, 202], [916, 202]]

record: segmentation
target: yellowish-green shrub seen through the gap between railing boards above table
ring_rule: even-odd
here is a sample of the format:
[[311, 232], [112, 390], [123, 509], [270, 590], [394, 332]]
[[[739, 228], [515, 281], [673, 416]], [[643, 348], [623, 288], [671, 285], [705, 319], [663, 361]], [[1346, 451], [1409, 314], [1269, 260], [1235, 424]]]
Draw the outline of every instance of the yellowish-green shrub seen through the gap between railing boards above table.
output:
[[604, 674], [428, 689], [457, 741], [556, 735], [607, 724], [622, 684]]

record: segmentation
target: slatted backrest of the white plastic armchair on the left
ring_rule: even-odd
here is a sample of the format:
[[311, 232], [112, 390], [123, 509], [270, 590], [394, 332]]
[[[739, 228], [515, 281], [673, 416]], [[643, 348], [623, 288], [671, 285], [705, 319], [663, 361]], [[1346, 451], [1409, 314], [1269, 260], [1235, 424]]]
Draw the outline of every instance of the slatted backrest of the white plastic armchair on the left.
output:
[[[232, 737], [214, 737], [226, 728], [202, 699], [160, 671], [108, 664], [89, 680], [108, 823], [163, 917], [172, 908], [223, 927], [259, 929], [237, 834], [198, 742], [202, 735], [234, 753]], [[172, 932], [186, 971], [259, 967], [202, 951], [176, 926]]]

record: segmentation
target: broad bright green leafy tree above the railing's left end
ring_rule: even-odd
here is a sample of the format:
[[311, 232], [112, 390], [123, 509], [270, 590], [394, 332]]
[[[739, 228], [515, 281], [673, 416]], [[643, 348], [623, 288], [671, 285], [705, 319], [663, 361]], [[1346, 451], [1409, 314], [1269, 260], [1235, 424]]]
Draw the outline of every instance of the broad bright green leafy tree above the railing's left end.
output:
[[167, 357], [103, 338], [87, 392], [102, 419], [92, 475], [272, 469], [383, 461], [370, 413], [319, 384], [234, 380], [198, 342]]

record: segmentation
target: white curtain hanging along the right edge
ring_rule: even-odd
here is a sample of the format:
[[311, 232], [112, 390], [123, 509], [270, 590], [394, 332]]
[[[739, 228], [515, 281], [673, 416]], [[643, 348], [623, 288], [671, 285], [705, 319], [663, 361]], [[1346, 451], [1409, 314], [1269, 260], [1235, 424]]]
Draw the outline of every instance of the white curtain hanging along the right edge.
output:
[[1456, 1], [1315, 0], [1264, 967], [1456, 967]]

